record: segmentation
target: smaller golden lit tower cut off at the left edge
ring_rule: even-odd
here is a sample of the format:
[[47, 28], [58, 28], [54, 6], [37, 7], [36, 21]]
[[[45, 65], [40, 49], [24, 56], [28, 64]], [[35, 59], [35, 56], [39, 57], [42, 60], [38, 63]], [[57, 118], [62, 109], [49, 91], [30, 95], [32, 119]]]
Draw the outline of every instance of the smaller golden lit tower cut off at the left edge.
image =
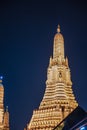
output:
[[8, 109], [6, 109], [6, 112], [4, 111], [4, 87], [2, 79], [0, 79], [0, 130], [10, 130]]

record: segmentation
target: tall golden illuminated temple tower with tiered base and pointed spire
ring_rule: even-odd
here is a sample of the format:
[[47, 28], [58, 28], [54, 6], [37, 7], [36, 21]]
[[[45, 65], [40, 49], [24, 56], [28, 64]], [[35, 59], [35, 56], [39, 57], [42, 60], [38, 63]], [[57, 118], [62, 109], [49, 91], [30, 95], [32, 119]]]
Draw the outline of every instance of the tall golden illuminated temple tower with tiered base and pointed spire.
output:
[[40, 106], [33, 111], [28, 130], [52, 130], [78, 106], [73, 91], [64, 37], [58, 25], [54, 36], [53, 57], [47, 69], [46, 90]]

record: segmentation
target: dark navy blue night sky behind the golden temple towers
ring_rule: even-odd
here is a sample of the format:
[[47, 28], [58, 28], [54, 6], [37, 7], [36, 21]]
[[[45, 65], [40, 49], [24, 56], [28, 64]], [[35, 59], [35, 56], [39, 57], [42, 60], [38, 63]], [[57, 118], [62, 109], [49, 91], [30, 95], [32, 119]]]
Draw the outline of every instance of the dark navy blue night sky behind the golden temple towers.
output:
[[11, 130], [23, 130], [42, 100], [58, 24], [65, 38], [75, 97], [87, 110], [86, 2], [0, 1], [0, 74]]

